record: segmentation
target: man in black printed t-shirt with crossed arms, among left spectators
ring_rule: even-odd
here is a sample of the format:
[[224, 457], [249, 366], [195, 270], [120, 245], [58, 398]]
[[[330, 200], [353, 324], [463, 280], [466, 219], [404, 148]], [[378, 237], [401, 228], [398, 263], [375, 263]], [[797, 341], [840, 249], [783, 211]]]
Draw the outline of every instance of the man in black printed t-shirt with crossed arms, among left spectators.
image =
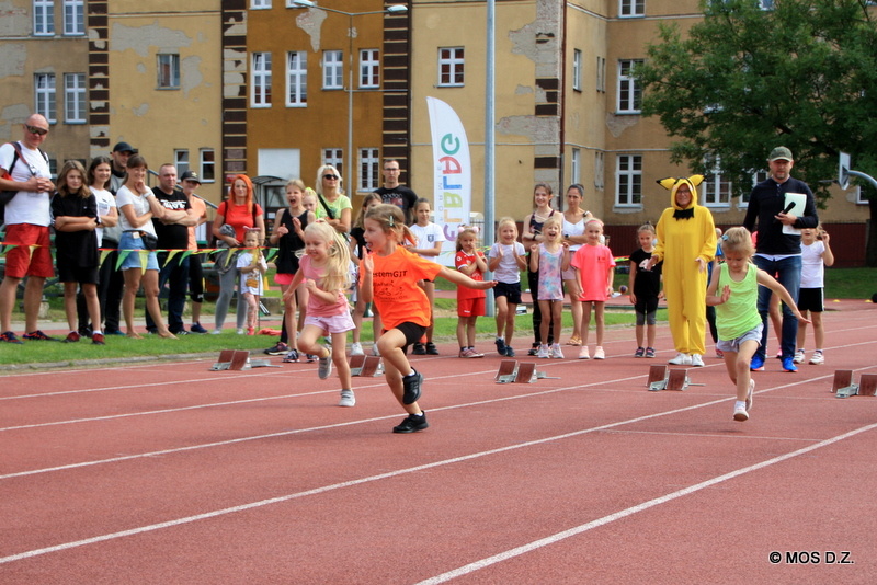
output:
[[[155, 197], [149, 197], [152, 209], [152, 226], [158, 237], [159, 290], [168, 283], [168, 329], [174, 335], [185, 335], [183, 308], [189, 289], [189, 226], [197, 223], [195, 211], [185, 194], [176, 188], [176, 167], [162, 164], [159, 169], [159, 185], [152, 187]], [[168, 260], [171, 250], [179, 252]], [[146, 329], [156, 332], [156, 324], [146, 314]]]

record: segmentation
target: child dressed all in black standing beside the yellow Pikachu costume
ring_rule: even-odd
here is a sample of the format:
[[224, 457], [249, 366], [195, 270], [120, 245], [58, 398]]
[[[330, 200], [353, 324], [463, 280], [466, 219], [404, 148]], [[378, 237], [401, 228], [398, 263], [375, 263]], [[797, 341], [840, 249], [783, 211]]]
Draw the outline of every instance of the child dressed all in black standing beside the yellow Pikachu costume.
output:
[[[645, 223], [637, 230], [639, 248], [630, 254], [630, 271], [627, 289], [630, 303], [637, 313], [637, 351], [634, 357], [654, 357], [656, 314], [658, 299], [661, 297], [661, 266], [658, 263], [649, 269], [649, 260], [654, 251], [654, 226]], [[643, 343], [645, 340], [645, 343]]]

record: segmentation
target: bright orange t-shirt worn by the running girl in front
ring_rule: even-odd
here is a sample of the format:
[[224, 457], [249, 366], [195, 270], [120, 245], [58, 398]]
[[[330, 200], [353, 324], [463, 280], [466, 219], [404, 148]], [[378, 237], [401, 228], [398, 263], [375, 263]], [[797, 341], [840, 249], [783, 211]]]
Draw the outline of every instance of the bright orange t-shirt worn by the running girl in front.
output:
[[[402, 323], [430, 325], [430, 299], [418, 280], [434, 280], [444, 266], [431, 260], [424, 260], [402, 246], [388, 256], [372, 254], [375, 269], [372, 274], [374, 301], [384, 329], [390, 330]], [[365, 271], [360, 273], [360, 283]]]

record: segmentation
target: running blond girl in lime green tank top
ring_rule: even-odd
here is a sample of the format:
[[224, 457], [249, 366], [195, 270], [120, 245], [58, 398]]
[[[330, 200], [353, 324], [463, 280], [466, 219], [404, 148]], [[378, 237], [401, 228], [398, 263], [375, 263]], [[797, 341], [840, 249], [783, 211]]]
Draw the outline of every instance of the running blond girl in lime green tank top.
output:
[[802, 323], [807, 323], [795, 299], [773, 276], [751, 263], [755, 248], [745, 228], [731, 228], [721, 237], [725, 263], [713, 272], [707, 288], [707, 305], [716, 307], [717, 347], [725, 354], [728, 376], [737, 386], [733, 420], [749, 420], [755, 380], [749, 370], [752, 356], [761, 344], [763, 324], [759, 316], [759, 285], [776, 292]]

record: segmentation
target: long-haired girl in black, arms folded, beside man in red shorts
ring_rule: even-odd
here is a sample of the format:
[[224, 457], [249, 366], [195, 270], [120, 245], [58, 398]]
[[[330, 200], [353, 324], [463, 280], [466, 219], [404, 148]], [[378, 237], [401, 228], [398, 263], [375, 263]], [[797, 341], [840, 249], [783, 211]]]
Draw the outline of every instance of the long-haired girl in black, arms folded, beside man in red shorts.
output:
[[70, 333], [66, 343], [78, 342], [76, 294], [82, 287], [89, 319], [94, 330], [91, 343], [104, 345], [101, 331], [101, 305], [98, 300], [100, 254], [94, 230], [101, 225], [98, 199], [86, 185], [86, 169], [79, 161], [67, 161], [58, 173], [58, 193], [52, 198], [55, 218], [55, 246], [58, 279], [64, 283], [64, 310]]

